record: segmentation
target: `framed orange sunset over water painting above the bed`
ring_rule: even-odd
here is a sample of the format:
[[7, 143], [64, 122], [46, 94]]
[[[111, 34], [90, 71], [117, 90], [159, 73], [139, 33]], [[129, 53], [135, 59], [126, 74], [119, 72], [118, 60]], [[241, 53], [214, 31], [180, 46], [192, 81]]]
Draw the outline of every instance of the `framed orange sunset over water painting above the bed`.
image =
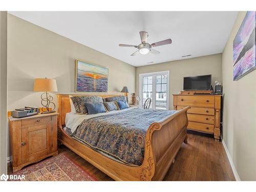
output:
[[76, 59], [76, 92], [108, 92], [107, 68]]

